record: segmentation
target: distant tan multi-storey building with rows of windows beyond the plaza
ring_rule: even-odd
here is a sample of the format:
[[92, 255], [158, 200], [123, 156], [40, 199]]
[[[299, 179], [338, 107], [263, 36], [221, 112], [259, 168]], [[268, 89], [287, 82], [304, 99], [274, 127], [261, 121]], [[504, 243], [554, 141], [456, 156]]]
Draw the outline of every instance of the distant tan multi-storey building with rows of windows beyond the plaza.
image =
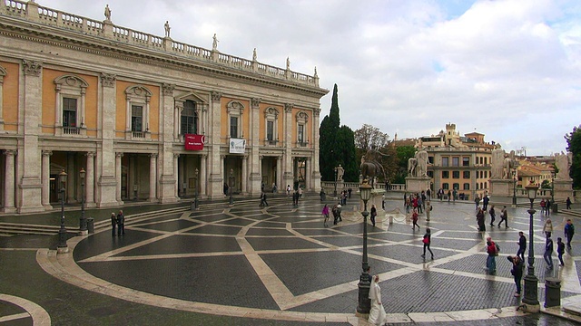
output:
[[432, 191], [457, 190], [457, 197], [483, 197], [489, 189], [490, 163], [494, 142], [484, 141], [484, 134], [471, 132], [460, 136], [456, 124], [448, 123], [446, 131], [421, 137], [418, 149], [428, 152], [428, 177]]

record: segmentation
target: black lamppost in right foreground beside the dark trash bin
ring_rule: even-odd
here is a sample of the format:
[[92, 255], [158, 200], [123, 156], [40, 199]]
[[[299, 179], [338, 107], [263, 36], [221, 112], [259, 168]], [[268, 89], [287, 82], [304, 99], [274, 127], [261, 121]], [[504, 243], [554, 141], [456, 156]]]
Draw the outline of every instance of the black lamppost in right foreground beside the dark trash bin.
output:
[[528, 221], [528, 269], [527, 275], [525, 276], [525, 298], [523, 303], [526, 303], [525, 310], [527, 312], [538, 312], [540, 306], [538, 303], [538, 279], [535, 276], [535, 245], [533, 244], [533, 215], [535, 214], [535, 209], [533, 208], [533, 202], [537, 197], [538, 186], [530, 184], [527, 187], [527, 196], [530, 200], [530, 209], [527, 211], [529, 216]]

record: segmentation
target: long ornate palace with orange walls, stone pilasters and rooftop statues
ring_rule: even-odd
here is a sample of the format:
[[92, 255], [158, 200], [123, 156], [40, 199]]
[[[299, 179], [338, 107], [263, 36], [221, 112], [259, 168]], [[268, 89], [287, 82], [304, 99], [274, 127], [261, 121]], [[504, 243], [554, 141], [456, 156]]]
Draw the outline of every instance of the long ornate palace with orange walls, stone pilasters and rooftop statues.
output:
[[[119, 206], [320, 188], [319, 78], [9, 0], [0, 7], [0, 201]], [[216, 42], [214, 42], [216, 43]], [[79, 171], [86, 171], [81, 180]], [[81, 185], [84, 189], [81, 189]]]

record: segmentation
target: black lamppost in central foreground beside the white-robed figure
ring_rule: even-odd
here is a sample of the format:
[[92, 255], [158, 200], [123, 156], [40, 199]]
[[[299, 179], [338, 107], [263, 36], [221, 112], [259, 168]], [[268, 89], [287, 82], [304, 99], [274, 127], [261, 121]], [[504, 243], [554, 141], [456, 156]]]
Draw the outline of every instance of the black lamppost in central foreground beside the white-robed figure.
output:
[[369, 282], [369, 264], [367, 261], [367, 216], [369, 216], [367, 202], [369, 197], [371, 197], [371, 188], [367, 179], [363, 180], [363, 183], [359, 186], [359, 195], [361, 200], [363, 200], [363, 212], [361, 212], [363, 216], [363, 258], [361, 261], [363, 272], [359, 277], [359, 284], [357, 284], [359, 288], [358, 313], [369, 313], [371, 309], [371, 302], [369, 300], [369, 286], [371, 283]]

